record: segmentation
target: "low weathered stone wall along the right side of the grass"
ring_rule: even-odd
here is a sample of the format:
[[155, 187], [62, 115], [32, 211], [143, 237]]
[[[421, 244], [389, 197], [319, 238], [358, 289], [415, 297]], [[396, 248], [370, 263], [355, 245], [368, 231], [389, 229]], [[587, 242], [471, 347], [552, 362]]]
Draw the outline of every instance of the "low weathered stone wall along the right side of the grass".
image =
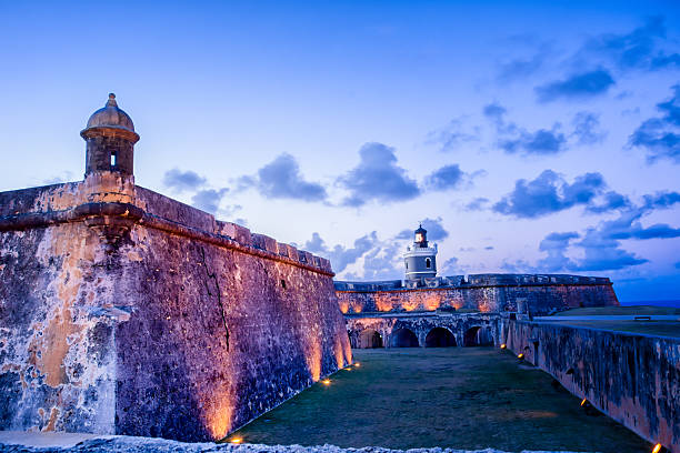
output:
[[508, 321], [506, 343], [564, 387], [680, 453], [680, 339]]

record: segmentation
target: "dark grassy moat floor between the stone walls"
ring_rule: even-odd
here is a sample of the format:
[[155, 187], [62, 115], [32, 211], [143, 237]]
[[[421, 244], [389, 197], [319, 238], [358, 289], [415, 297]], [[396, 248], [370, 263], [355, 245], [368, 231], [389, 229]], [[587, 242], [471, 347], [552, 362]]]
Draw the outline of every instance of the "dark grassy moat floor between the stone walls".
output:
[[354, 351], [341, 370], [233, 433], [248, 443], [639, 453], [651, 445], [542, 371], [491, 348]]

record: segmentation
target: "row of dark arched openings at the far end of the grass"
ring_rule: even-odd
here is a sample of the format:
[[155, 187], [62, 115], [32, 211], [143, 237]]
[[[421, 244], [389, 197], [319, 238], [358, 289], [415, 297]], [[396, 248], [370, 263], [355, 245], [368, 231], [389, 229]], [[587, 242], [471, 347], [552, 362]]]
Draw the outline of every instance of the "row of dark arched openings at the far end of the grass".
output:
[[[389, 339], [390, 348], [419, 348], [420, 343], [416, 333], [408, 329], [401, 328], [392, 332]], [[493, 338], [489, 329], [482, 326], [473, 326], [468, 329], [463, 334], [463, 346], [492, 346]], [[384, 348], [382, 335], [373, 329], [364, 329], [359, 333], [358, 348], [374, 349]], [[446, 328], [433, 328], [424, 338], [426, 348], [451, 348], [458, 346], [456, 335]]]

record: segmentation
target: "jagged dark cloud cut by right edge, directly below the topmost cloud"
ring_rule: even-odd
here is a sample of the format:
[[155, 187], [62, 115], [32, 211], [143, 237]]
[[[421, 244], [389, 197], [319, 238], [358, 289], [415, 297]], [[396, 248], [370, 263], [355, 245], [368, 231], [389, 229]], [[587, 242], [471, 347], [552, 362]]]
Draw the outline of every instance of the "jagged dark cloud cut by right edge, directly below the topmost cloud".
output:
[[671, 89], [672, 97], [657, 104], [661, 115], [643, 121], [628, 139], [631, 147], [647, 151], [649, 162], [670, 159], [680, 163], [680, 84]]

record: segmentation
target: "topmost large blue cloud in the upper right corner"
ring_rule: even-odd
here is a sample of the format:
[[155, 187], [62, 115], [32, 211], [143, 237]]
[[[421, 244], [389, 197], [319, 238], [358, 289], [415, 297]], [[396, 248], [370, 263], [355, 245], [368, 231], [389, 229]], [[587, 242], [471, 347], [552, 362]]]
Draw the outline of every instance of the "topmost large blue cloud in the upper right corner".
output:
[[606, 33], [588, 40], [578, 52], [582, 57], [602, 58], [621, 71], [631, 69], [659, 70], [680, 67], [680, 54], [667, 53], [663, 17], [653, 17], [629, 33]]

